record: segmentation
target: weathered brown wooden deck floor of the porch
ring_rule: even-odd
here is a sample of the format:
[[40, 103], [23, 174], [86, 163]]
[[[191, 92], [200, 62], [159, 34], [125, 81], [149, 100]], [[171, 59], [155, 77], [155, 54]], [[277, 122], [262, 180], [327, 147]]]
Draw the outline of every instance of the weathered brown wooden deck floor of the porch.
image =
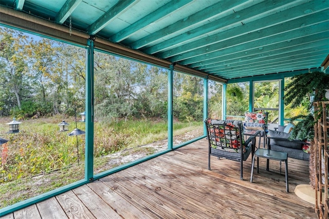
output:
[[289, 193], [279, 162], [260, 159], [250, 182], [244, 163], [212, 157], [207, 140], [145, 161], [2, 218], [317, 218], [314, 205], [294, 193], [308, 184], [308, 163], [288, 159]]

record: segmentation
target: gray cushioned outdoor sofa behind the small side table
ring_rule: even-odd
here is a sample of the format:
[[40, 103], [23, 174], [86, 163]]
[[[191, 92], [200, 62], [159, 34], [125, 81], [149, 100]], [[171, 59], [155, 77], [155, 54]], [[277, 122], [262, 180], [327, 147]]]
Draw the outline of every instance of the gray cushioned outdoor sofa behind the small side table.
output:
[[278, 131], [268, 130], [267, 147], [273, 151], [286, 152], [288, 157], [309, 160], [309, 154], [302, 149], [303, 145], [309, 145], [305, 141], [290, 140], [290, 134], [283, 132], [284, 126], [279, 125]]

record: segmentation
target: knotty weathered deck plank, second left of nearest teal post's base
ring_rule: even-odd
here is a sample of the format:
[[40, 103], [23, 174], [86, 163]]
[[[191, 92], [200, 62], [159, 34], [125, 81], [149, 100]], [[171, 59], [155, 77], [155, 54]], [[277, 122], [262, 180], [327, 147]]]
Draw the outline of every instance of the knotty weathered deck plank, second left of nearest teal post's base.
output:
[[56, 199], [69, 218], [95, 218], [71, 190], [57, 195]]

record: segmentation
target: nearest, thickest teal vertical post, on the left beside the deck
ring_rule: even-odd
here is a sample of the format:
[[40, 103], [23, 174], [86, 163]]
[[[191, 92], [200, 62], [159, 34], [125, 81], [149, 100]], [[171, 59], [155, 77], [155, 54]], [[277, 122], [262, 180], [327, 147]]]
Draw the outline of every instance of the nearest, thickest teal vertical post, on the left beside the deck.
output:
[[86, 50], [86, 144], [85, 180], [94, 180], [94, 36]]

